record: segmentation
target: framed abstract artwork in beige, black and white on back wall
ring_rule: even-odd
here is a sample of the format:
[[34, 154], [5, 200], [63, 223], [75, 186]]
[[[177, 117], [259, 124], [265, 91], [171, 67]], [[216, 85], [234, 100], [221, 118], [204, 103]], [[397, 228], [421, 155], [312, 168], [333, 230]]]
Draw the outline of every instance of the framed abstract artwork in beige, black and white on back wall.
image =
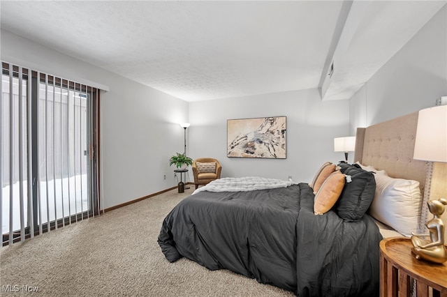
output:
[[227, 157], [286, 158], [286, 116], [227, 120]]

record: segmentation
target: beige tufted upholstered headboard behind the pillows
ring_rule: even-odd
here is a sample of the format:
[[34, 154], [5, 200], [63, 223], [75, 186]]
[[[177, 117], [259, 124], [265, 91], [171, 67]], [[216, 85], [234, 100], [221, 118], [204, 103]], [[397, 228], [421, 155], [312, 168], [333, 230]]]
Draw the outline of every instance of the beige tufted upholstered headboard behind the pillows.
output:
[[[425, 222], [428, 218], [432, 218], [427, 208], [427, 200], [446, 195], [446, 183], [441, 185], [438, 183], [434, 189], [435, 185], [432, 184], [434, 167], [439, 169], [436, 170], [437, 174], [441, 174], [441, 178], [437, 176], [438, 180], [446, 180], [447, 163], [433, 165], [432, 162], [413, 160], [417, 124], [418, 112], [414, 112], [367, 128], [357, 128], [354, 162], [385, 170], [393, 178], [418, 181], [423, 194], [423, 204], [421, 218], [417, 219], [419, 231], [425, 233]], [[442, 218], [447, 226], [447, 211]], [[444, 235], [447, 243], [447, 231]]]

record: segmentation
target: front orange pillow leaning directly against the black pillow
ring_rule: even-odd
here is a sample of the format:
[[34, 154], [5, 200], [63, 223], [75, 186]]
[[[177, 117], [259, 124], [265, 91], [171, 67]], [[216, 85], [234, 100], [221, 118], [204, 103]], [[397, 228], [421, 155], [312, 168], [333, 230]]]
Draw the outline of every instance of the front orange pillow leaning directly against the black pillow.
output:
[[335, 205], [342, 194], [345, 179], [345, 175], [339, 170], [332, 172], [326, 178], [314, 198], [314, 213], [316, 215], [327, 213]]

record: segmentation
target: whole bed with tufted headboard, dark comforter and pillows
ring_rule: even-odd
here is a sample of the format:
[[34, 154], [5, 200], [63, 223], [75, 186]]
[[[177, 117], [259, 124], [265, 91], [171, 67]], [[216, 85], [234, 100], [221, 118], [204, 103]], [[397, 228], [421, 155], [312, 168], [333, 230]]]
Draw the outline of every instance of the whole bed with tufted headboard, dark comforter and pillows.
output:
[[[426, 164], [412, 159], [417, 116], [359, 128], [356, 164], [326, 162], [312, 183], [221, 178], [199, 188], [163, 221], [163, 254], [171, 262], [186, 257], [297, 296], [378, 296], [379, 242], [417, 231], [427, 215], [420, 194]], [[404, 208], [409, 213], [398, 220], [386, 211], [400, 211], [402, 204], [376, 197], [379, 175], [381, 191], [392, 198], [405, 191], [402, 183], [411, 188], [411, 205]]]

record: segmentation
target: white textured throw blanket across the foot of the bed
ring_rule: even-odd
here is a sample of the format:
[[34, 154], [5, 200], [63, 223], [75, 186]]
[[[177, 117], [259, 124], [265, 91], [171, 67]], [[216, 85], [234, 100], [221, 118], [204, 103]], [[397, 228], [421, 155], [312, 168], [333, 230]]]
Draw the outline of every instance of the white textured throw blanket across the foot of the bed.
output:
[[274, 178], [263, 178], [258, 176], [245, 177], [225, 177], [219, 178], [202, 188], [198, 188], [193, 192], [247, 192], [254, 190], [265, 190], [275, 188], [287, 188], [293, 185], [293, 181], [281, 181]]

